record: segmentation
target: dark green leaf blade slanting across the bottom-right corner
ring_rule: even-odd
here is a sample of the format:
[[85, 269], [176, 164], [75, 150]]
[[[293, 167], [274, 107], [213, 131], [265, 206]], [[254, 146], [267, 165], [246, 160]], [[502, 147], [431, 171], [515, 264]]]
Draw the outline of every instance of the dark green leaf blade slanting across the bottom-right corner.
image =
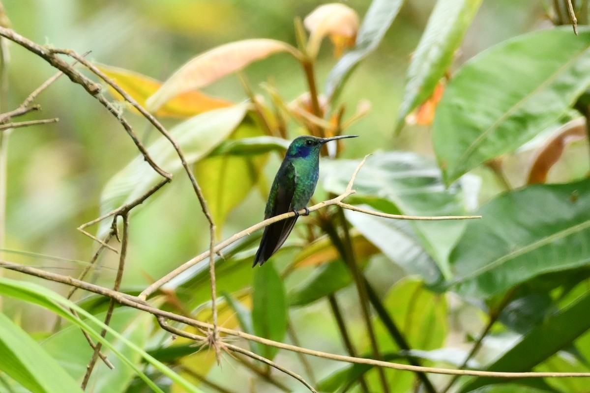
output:
[[[582, 315], [588, 315], [588, 310], [590, 292], [580, 296], [567, 308], [546, 318], [506, 354], [488, 366], [486, 371], [529, 371], [560, 349], [571, 345], [576, 338], [590, 329], [590, 318], [581, 318]], [[460, 393], [502, 381], [489, 377], [474, 378], [461, 388]]]

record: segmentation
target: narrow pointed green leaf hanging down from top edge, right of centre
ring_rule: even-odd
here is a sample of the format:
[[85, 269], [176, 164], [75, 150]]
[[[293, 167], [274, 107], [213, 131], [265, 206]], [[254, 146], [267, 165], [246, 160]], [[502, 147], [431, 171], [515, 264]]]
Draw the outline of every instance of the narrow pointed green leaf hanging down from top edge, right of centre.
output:
[[405, 117], [424, 102], [447, 72], [481, 0], [438, 0], [406, 76], [404, 99], [398, 113], [399, 130]]

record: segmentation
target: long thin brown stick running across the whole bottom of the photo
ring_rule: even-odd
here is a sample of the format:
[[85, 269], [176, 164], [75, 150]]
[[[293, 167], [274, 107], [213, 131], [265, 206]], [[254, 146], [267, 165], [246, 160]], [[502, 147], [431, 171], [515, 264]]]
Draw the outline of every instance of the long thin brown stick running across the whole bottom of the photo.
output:
[[[117, 292], [115, 290], [104, 288], [100, 285], [94, 285], [85, 281], [80, 281], [69, 276], [58, 275], [57, 273], [45, 272], [41, 269], [36, 269], [31, 266], [21, 266], [18, 263], [0, 261], [0, 267], [6, 269], [15, 270], [17, 272], [25, 273], [28, 275], [36, 276], [42, 279], [50, 280], [53, 282], [63, 283], [65, 285], [77, 286], [80, 289], [87, 290], [89, 292], [97, 293], [99, 295], [107, 296], [115, 299], [122, 305], [129, 306], [141, 311], [146, 311], [152, 315], [158, 317], [171, 319], [172, 321], [185, 323], [189, 326], [194, 326], [198, 329], [211, 329], [213, 326], [211, 323], [196, 321], [196, 319], [188, 318], [186, 316], [178, 315], [169, 311], [160, 310], [154, 308], [137, 296], [127, 295], [126, 293]], [[227, 335], [232, 335], [247, 339], [250, 341], [259, 342], [260, 344], [274, 346], [275, 348], [285, 349], [286, 351], [299, 352], [301, 354], [316, 356], [318, 358], [330, 359], [334, 361], [354, 363], [354, 364], [366, 364], [370, 366], [385, 367], [391, 369], [414, 371], [414, 372], [428, 372], [431, 374], [444, 374], [444, 375], [470, 375], [472, 377], [492, 377], [492, 378], [573, 378], [583, 377], [590, 378], [590, 372], [496, 372], [496, 371], [477, 371], [477, 370], [458, 370], [458, 369], [447, 369], [437, 367], [426, 367], [426, 366], [412, 366], [407, 364], [399, 364], [394, 362], [378, 361], [375, 359], [357, 358], [354, 356], [336, 355], [329, 354], [322, 351], [314, 351], [313, 349], [302, 348], [300, 346], [284, 344], [283, 342], [273, 341], [266, 338], [258, 337], [248, 333], [236, 331], [233, 329], [227, 329], [219, 326], [219, 332]]]

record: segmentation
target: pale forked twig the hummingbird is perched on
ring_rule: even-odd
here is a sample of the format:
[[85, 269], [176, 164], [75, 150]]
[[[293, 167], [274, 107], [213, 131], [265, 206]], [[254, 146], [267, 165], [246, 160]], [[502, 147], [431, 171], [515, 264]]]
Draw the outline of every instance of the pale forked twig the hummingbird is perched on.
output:
[[[335, 204], [337, 206], [343, 207], [344, 209], [355, 210], [356, 212], [362, 212], [362, 213], [372, 214], [373, 216], [402, 219], [402, 220], [460, 220], [460, 219], [481, 218], [481, 216], [441, 216], [441, 217], [402, 216], [399, 214], [386, 214], [386, 213], [374, 212], [371, 210], [361, 209], [359, 207], [352, 206], [350, 204], [342, 203], [343, 199], [348, 197], [350, 194], [355, 193], [355, 190], [352, 189], [352, 185], [356, 179], [356, 176], [359, 173], [360, 168], [365, 163], [365, 160], [367, 157], [368, 156], [363, 158], [363, 160], [360, 162], [359, 166], [356, 167], [355, 172], [352, 174], [352, 177], [350, 177], [350, 181], [349, 181], [348, 185], [346, 186], [346, 190], [342, 194], [340, 194], [339, 196], [337, 196], [333, 199], [314, 204], [313, 206], [309, 207], [308, 209], [301, 209], [297, 213], [304, 214], [307, 212], [314, 212], [315, 210], [319, 210], [319, 209], [322, 209], [323, 207]], [[220, 250], [231, 245], [232, 243], [236, 242], [237, 240], [241, 239], [242, 237], [248, 236], [251, 233], [255, 232], [256, 230], [261, 229], [269, 224], [287, 219], [289, 217], [294, 217], [297, 213], [289, 212], [289, 213], [279, 214], [278, 216], [274, 216], [274, 217], [271, 217], [270, 219], [263, 220], [260, 223], [254, 224], [253, 226], [251, 226], [247, 229], [244, 229], [241, 232], [236, 233], [235, 235], [231, 236], [230, 238], [224, 240], [223, 242], [221, 242], [217, 246], [215, 246], [213, 248], [212, 252], [211, 252], [211, 250], [209, 250], [204, 253], [201, 253], [200, 255], [195, 256], [194, 258], [189, 260], [188, 262], [183, 263], [181, 266], [176, 267], [176, 269], [172, 270], [172, 272], [170, 272], [170, 273], [166, 274], [165, 276], [163, 276], [162, 278], [156, 280], [156, 282], [152, 283], [150, 286], [148, 286], [148, 288], [144, 289], [142, 291], [142, 293], [139, 294], [139, 298], [142, 300], [146, 300], [148, 298], [148, 296], [150, 296], [150, 295], [152, 295], [152, 293], [156, 292], [156, 290], [158, 290], [161, 286], [165, 285], [167, 282], [169, 282], [170, 280], [172, 280], [176, 276], [180, 275], [182, 272], [184, 272], [189, 267], [196, 265], [196, 263], [201, 262], [202, 260], [204, 260], [207, 257], [211, 257], [214, 253], [219, 252]]]

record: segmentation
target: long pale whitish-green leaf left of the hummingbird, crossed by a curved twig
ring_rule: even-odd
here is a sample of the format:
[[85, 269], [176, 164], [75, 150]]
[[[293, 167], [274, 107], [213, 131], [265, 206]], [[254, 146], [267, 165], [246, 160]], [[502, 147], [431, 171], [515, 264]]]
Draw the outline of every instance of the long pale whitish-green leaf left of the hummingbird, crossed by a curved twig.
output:
[[[248, 104], [243, 103], [208, 111], [184, 121], [172, 128], [169, 133], [181, 148], [186, 163], [191, 165], [207, 156], [209, 151], [227, 138], [241, 123], [247, 109]], [[163, 136], [160, 136], [148, 151], [162, 169], [170, 173], [182, 169], [176, 150]], [[100, 214], [111, 212], [139, 198], [161, 179], [162, 177], [149, 166], [142, 155], [137, 156], [104, 186], [100, 196]], [[149, 200], [153, 200], [153, 197]], [[101, 221], [98, 237], [107, 233], [110, 223], [110, 220]]]

